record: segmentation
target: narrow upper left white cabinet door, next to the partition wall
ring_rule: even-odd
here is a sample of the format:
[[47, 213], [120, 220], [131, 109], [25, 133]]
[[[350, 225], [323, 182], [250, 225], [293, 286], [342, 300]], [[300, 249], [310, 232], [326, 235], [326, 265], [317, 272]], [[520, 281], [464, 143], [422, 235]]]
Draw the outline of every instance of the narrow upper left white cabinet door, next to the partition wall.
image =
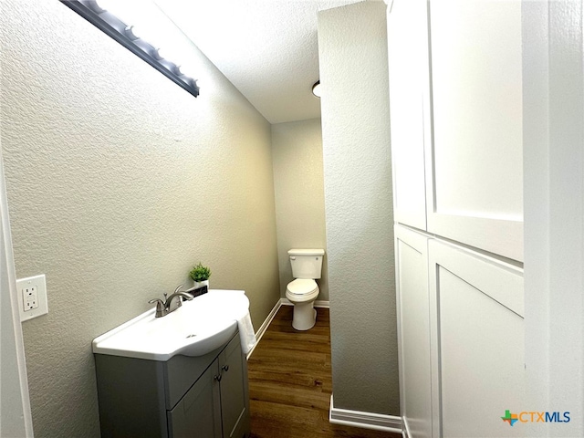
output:
[[426, 2], [395, 0], [388, 8], [387, 26], [393, 215], [396, 222], [425, 230], [422, 109], [428, 84]]

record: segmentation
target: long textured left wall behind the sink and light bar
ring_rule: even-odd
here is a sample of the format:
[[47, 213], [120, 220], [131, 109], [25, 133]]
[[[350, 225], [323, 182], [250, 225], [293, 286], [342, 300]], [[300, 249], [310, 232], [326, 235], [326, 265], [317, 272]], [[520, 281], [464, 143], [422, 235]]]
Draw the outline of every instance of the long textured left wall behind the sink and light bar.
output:
[[0, 0], [2, 147], [36, 437], [99, 436], [91, 340], [172, 292], [199, 260], [279, 298], [270, 126], [195, 47], [193, 96], [57, 1]]

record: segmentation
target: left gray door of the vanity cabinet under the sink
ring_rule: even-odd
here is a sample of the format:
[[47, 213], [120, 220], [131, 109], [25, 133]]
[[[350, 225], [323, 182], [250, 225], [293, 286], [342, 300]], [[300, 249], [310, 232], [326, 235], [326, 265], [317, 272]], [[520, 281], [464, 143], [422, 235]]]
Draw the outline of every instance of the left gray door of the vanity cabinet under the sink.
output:
[[218, 360], [203, 373], [183, 399], [167, 413], [173, 438], [221, 438], [221, 401]]

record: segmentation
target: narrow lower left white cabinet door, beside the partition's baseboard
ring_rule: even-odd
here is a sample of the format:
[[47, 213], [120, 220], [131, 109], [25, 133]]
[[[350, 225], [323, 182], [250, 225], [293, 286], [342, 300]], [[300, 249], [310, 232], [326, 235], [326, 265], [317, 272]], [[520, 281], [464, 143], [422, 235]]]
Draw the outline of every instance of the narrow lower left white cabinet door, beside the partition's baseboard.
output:
[[432, 437], [428, 238], [395, 226], [401, 418], [410, 438]]

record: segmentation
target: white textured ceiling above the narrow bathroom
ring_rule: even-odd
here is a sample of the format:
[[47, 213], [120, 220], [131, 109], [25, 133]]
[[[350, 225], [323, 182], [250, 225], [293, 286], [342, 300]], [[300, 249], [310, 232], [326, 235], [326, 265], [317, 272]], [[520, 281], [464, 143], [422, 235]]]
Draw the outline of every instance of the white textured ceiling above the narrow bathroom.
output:
[[[320, 117], [317, 13], [358, 0], [158, 0], [270, 123]], [[203, 90], [202, 90], [203, 92]]]

